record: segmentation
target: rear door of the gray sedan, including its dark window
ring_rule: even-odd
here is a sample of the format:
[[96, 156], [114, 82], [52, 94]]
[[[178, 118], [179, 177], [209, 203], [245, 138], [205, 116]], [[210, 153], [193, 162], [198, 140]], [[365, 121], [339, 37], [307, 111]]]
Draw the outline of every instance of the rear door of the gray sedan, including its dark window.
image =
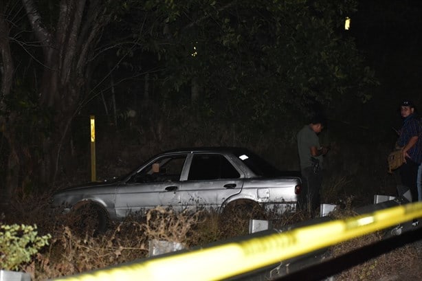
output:
[[192, 153], [179, 196], [186, 207], [220, 207], [241, 192], [243, 173], [221, 153]]

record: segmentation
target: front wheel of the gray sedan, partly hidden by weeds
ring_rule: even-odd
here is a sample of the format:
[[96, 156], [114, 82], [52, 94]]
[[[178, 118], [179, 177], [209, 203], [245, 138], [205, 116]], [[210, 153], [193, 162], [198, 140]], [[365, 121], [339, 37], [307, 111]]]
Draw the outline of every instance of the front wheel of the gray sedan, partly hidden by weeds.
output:
[[69, 226], [78, 234], [98, 236], [106, 232], [109, 223], [106, 211], [97, 204], [83, 203], [74, 207]]

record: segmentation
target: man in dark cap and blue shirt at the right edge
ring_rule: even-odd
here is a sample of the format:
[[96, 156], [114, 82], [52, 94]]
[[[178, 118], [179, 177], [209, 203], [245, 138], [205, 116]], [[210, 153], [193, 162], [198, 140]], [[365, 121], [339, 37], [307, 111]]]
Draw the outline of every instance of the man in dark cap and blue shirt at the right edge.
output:
[[400, 167], [401, 182], [412, 194], [412, 202], [418, 201], [417, 176], [422, 162], [422, 125], [414, 112], [414, 104], [410, 100], [401, 103], [400, 112], [403, 126], [399, 132], [397, 146], [403, 148], [405, 163]]

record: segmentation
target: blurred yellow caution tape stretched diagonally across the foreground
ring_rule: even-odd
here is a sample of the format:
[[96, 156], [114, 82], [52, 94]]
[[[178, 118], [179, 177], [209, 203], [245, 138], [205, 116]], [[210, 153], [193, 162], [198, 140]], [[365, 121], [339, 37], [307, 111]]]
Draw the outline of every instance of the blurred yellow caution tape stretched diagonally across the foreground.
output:
[[55, 280], [221, 280], [422, 217], [422, 202]]

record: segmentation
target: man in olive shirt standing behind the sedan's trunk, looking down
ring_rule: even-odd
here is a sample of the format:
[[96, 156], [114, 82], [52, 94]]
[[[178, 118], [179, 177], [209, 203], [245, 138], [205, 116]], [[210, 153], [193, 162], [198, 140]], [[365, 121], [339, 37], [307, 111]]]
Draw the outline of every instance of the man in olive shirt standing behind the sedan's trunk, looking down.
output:
[[299, 131], [298, 153], [300, 171], [302, 173], [302, 192], [298, 202], [299, 207], [314, 216], [320, 206], [320, 188], [322, 183], [323, 155], [327, 148], [320, 146], [318, 134], [324, 128], [322, 117], [313, 117], [311, 123]]

